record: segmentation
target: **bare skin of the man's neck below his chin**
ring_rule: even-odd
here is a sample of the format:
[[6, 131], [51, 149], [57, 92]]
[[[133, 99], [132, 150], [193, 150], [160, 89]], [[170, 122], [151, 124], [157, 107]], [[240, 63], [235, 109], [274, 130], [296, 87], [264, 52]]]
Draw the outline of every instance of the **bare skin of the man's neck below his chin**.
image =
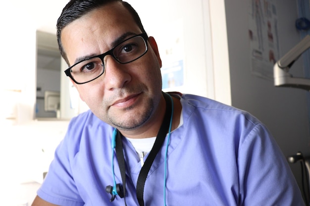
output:
[[[173, 116], [172, 116], [172, 125], [171, 131], [176, 129], [180, 124], [180, 115], [182, 106], [180, 100], [172, 97], [173, 100]], [[170, 100], [169, 100], [170, 101]], [[168, 102], [170, 104], [170, 102]], [[133, 139], [149, 138], [155, 137], [159, 131], [159, 128], [162, 124], [166, 111], [166, 102], [163, 96], [160, 98], [159, 105], [153, 115], [153, 118], [148, 121], [145, 125], [134, 130], [119, 130], [123, 136]]]

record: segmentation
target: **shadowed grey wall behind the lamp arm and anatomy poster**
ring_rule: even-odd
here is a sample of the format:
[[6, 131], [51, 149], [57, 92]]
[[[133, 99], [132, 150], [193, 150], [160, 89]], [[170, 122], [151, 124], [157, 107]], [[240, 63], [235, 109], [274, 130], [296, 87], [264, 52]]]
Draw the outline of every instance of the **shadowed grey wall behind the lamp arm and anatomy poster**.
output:
[[[296, 0], [275, 0], [280, 57], [300, 41], [295, 29]], [[269, 128], [285, 156], [301, 151], [310, 156], [308, 91], [273, 86], [273, 81], [251, 74], [249, 53], [250, 0], [225, 0], [232, 106], [249, 111]], [[303, 77], [301, 61], [290, 72]], [[272, 68], [270, 68], [272, 69]], [[310, 68], [309, 68], [310, 69]], [[270, 157], [272, 159], [272, 157]], [[291, 168], [301, 185], [300, 165]]]

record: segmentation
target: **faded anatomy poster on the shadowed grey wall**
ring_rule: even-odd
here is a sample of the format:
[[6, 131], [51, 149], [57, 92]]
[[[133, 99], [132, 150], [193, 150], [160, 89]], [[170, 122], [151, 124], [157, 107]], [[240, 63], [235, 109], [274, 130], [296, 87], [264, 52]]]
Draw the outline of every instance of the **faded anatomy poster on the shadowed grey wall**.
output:
[[273, 79], [273, 65], [279, 58], [277, 7], [274, 0], [249, 0], [251, 72]]

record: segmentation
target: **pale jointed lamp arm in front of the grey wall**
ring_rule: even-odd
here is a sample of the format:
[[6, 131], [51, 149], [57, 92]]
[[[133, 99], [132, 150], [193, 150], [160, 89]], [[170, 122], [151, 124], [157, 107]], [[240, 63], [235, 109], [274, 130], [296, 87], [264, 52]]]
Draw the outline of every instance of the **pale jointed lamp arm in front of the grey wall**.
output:
[[307, 35], [274, 64], [273, 76], [275, 86], [295, 87], [310, 91], [310, 79], [296, 78], [289, 74], [291, 66], [308, 48], [310, 48], [310, 35]]

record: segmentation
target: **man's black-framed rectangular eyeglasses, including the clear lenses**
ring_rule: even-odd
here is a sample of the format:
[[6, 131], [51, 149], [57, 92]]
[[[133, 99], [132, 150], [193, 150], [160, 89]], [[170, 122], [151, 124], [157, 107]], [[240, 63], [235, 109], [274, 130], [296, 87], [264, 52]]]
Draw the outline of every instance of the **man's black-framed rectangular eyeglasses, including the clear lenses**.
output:
[[75, 83], [82, 84], [99, 78], [104, 73], [104, 57], [111, 55], [118, 63], [127, 64], [148, 51], [148, 35], [142, 33], [122, 41], [107, 52], [84, 59], [64, 71]]

